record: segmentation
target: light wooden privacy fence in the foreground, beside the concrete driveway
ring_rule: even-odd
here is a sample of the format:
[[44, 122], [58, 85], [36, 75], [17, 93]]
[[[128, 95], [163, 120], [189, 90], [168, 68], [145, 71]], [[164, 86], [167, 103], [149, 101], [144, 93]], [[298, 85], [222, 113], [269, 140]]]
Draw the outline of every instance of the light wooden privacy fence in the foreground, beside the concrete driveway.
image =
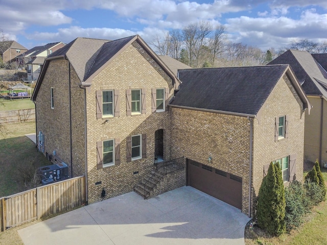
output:
[[85, 203], [85, 176], [40, 186], [0, 199], [1, 231]]

